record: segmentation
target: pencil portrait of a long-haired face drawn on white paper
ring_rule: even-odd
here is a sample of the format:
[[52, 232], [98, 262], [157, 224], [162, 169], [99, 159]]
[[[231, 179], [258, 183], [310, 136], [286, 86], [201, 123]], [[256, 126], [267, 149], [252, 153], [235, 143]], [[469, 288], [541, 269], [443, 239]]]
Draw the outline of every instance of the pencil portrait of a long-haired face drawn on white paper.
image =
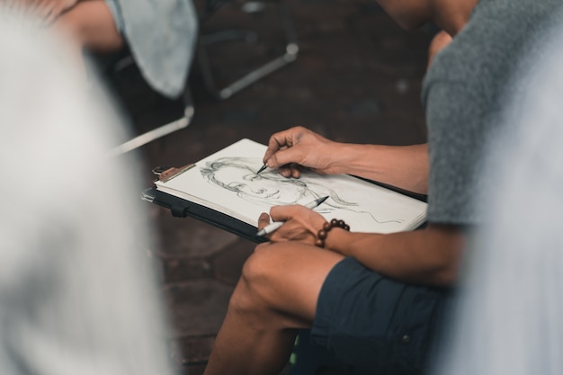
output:
[[[211, 185], [219, 186], [226, 192], [244, 201], [274, 205], [307, 204], [320, 197], [328, 196], [316, 210], [320, 214], [330, 214], [347, 210], [361, 213], [366, 220], [378, 224], [400, 224], [405, 219], [383, 218], [373, 200], [353, 201], [353, 189], [343, 183], [342, 186], [327, 186], [322, 176], [303, 173], [299, 179], [287, 178], [277, 171], [265, 170], [260, 174], [256, 171], [262, 165], [259, 158], [251, 157], [219, 157], [207, 161], [200, 167], [201, 176]], [[339, 192], [336, 192], [336, 189]], [[347, 197], [344, 199], [344, 192]], [[364, 210], [365, 208], [365, 210]]]

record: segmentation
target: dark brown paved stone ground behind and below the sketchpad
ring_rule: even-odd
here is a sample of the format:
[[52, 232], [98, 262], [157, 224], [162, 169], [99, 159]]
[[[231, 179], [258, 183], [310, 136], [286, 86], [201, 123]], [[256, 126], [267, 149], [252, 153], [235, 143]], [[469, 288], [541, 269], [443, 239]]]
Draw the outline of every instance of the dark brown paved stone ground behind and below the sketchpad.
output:
[[[193, 121], [187, 129], [139, 148], [144, 183], [139, 192], [152, 185], [153, 166], [197, 161], [239, 138], [266, 143], [273, 132], [294, 125], [346, 142], [425, 141], [419, 97], [433, 28], [402, 31], [378, 5], [358, 0], [289, 0], [289, 4], [299, 58], [225, 101], [206, 92], [194, 64]], [[270, 6], [252, 16], [237, 9], [227, 5], [220, 9], [203, 25], [204, 32], [242, 25], [255, 27], [264, 39], [250, 47], [236, 40], [213, 46], [212, 67], [223, 81], [275, 55], [275, 46], [282, 45]], [[112, 87], [135, 132], [164, 124], [182, 111], [181, 103], [147, 88], [135, 67], [112, 76]], [[175, 219], [156, 205], [147, 206], [147, 220], [159, 236], [151, 254], [161, 266], [172, 318], [170, 355], [182, 372], [201, 374], [254, 244], [194, 219]]]

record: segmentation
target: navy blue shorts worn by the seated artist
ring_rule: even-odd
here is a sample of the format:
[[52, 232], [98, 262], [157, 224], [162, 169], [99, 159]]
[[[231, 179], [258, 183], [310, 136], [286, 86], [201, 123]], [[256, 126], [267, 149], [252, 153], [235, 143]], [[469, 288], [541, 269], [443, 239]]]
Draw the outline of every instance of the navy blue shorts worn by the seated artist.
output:
[[348, 257], [326, 277], [310, 341], [354, 373], [420, 374], [450, 295], [390, 280]]

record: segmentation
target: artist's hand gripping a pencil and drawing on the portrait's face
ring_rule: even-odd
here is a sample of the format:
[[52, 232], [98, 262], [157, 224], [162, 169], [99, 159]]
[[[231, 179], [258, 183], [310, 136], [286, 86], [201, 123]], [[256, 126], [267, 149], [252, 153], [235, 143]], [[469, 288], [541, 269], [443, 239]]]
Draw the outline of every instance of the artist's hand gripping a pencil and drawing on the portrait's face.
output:
[[308, 167], [319, 174], [335, 174], [338, 145], [309, 129], [295, 127], [270, 137], [264, 163], [279, 168], [280, 174], [286, 177], [299, 178], [299, 167]]

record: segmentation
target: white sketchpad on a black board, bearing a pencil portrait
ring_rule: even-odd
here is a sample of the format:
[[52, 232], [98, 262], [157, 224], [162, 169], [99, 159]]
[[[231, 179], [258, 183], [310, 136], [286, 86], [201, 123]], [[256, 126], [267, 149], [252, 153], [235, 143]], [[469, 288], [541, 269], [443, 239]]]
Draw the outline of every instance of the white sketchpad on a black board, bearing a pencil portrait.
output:
[[[348, 174], [302, 171], [299, 179], [276, 170], [256, 171], [266, 146], [241, 139], [199, 162], [161, 174], [143, 198], [241, 237], [255, 237], [258, 217], [275, 205], [305, 205], [329, 198], [315, 210], [327, 221], [343, 219], [353, 232], [393, 233], [420, 227], [426, 202]], [[176, 212], [174, 212], [174, 210]]]

